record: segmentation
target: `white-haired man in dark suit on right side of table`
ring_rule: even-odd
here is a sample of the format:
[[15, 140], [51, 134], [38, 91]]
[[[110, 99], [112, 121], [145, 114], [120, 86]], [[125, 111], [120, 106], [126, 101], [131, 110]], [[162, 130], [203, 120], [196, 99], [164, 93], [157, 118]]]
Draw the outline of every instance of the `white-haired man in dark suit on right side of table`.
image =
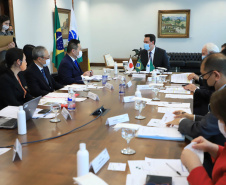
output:
[[[213, 43], [207, 43], [202, 48], [202, 59], [211, 53], [218, 53], [219, 48]], [[200, 87], [189, 84], [184, 87], [186, 90], [194, 92], [193, 99], [193, 113], [198, 115], [205, 115], [208, 112], [208, 104], [210, 101], [210, 96], [214, 92], [214, 87], [208, 87], [206, 80], [203, 80], [195, 73], [191, 73], [188, 76], [188, 80], [194, 79]]]

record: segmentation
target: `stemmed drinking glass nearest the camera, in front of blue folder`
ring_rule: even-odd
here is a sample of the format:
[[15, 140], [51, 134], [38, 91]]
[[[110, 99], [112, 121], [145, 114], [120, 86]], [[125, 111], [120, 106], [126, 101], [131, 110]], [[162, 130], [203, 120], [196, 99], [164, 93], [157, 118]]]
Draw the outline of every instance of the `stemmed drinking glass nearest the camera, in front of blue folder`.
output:
[[135, 130], [129, 129], [129, 128], [122, 128], [121, 134], [122, 134], [122, 138], [124, 138], [127, 142], [127, 148], [122, 149], [121, 153], [125, 155], [135, 154], [136, 151], [129, 147], [130, 140], [135, 136]]

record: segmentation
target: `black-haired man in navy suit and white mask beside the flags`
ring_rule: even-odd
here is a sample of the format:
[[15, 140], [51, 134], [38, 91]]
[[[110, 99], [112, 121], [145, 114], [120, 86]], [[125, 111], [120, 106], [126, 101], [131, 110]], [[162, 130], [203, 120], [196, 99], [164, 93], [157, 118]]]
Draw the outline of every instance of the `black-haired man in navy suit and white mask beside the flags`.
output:
[[64, 85], [69, 85], [72, 83], [83, 84], [82, 77], [83, 76], [92, 76], [92, 71], [82, 72], [77, 58], [82, 56], [80, 41], [76, 39], [71, 39], [68, 43], [67, 54], [62, 59], [59, 69], [58, 75], [60, 82]]

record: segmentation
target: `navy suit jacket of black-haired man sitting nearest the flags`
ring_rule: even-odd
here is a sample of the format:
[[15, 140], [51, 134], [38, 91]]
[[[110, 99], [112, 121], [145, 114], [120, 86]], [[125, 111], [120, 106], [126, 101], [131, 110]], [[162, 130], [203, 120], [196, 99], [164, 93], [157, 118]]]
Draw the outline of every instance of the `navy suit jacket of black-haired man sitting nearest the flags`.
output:
[[77, 67], [71, 57], [66, 54], [58, 68], [60, 83], [64, 85], [69, 85], [72, 83], [83, 84], [81, 77], [82, 74], [83, 72], [80, 66], [78, 65]]

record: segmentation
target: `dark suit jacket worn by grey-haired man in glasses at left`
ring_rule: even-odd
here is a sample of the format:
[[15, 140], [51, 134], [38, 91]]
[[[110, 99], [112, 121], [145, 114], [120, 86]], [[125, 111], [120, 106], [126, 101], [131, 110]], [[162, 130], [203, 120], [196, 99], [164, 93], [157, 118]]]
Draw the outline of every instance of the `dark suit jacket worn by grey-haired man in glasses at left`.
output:
[[58, 90], [63, 86], [57, 83], [53, 77], [50, 75], [48, 67], [43, 67], [45, 75], [49, 81], [47, 84], [45, 78], [43, 77], [41, 71], [36, 66], [35, 63], [30, 64], [25, 72], [26, 80], [28, 87], [31, 91], [31, 95], [37, 96], [44, 96], [49, 92], [53, 92], [54, 90]]

